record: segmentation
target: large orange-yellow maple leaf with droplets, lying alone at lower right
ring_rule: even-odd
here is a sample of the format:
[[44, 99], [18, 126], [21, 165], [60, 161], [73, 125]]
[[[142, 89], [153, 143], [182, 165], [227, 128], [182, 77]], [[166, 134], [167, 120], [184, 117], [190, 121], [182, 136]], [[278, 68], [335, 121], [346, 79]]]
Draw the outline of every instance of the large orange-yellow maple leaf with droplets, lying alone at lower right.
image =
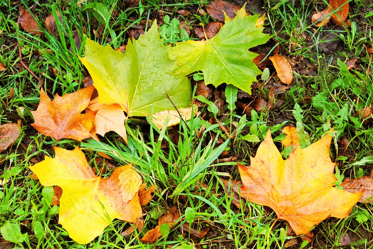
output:
[[242, 186], [237, 192], [250, 202], [272, 208], [297, 235], [333, 216], [345, 218], [363, 193], [334, 188], [335, 163], [329, 156], [332, 136], [326, 134], [283, 160], [268, 132], [250, 167], [238, 163]]

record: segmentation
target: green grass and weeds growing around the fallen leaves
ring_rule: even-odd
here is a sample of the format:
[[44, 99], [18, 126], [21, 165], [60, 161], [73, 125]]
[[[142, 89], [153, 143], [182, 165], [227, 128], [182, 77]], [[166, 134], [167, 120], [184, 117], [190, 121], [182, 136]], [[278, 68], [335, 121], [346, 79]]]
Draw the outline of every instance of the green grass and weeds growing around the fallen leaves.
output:
[[[366, 53], [365, 46], [372, 46], [370, 30], [366, 25], [372, 25], [370, 19], [363, 19], [369, 14], [367, 7], [371, 2], [350, 1], [350, 21], [355, 22], [356, 31], [336, 27], [328, 24], [325, 27], [314, 27], [310, 24], [310, 16], [315, 11], [326, 7], [325, 3], [313, 1], [261, 1], [268, 13], [267, 28], [272, 28], [274, 39], [280, 43], [280, 53], [295, 63], [294, 84], [285, 92], [285, 102], [273, 110], [261, 112], [253, 111], [251, 117], [236, 113], [226, 115], [223, 122], [232, 126], [237, 123], [236, 135], [232, 141], [217, 125], [210, 125], [212, 114], [208, 113], [204, 119], [194, 118], [178, 126], [181, 138], [173, 144], [169, 137], [169, 130], [159, 130], [155, 126], [143, 124], [144, 120], [132, 120], [126, 126], [128, 146], [118, 140], [118, 136], [109, 133], [97, 142], [87, 139], [81, 143], [62, 139], [57, 146], [72, 149], [78, 145], [85, 152], [91, 167], [100, 172], [101, 165], [95, 157], [102, 151], [112, 157], [110, 161], [115, 166], [132, 163], [141, 173], [147, 186], [157, 187], [154, 198], [143, 207], [145, 227], [141, 233], [135, 230], [134, 235], [122, 237], [119, 234], [130, 224], [114, 220], [104, 233], [88, 245], [78, 245], [73, 242], [65, 230], [58, 225], [58, 206], [50, 206], [51, 187], [43, 187], [39, 181], [30, 178], [28, 166], [40, 162], [44, 155], [53, 157], [51, 146], [56, 144], [53, 139], [38, 134], [32, 126], [30, 110], [36, 110], [39, 102], [39, 87], [47, 89], [51, 97], [58, 93], [74, 92], [83, 87], [86, 71], [78, 56], [84, 55], [84, 47], [76, 46], [73, 34], [78, 34], [84, 44], [85, 36], [94, 38], [101, 44], [109, 44], [115, 48], [126, 44], [126, 31], [132, 24], [140, 24], [141, 20], [159, 18], [159, 13], [183, 18], [176, 13], [180, 9], [197, 9], [207, 5], [207, 2], [191, 1], [159, 1], [145, 0], [143, 6], [130, 9], [123, 7], [123, 1], [99, 1], [106, 7], [109, 14], [116, 10], [106, 23], [96, 21], [92, 8], [80, 7], [75, 1], [24, 1], [32, 8], [32, 13], [41, 27], [44, 19], [57, 11], [62, 16], [58, 27], [59, 39], [47, 31], [44, 36], [34, 36], [18, 27], [18, 7], [10, 1], [0, 1], [0, 61], [7, 67], [7, 71], [0, 74], [0, 124], [22, 120], [22, 133], [9, 149], [0, 154], [1, 186], [0, 186], [0, 227], [9, 221], [19, 224], [21, 233], [26, 233], [28, 243], [12, 244], [11, 248], [190, 248], [193, 240], [189, 239], [188, 231], [185, 236], [180, 231], [181, 224], [186, 222], [186, 207], [195, 212], [195, 219], [191, 227], [201, 230], [209, 227], [208, 236], [201, 239], [201, 248], [284, 248], [286, 242], [296, 237], [288, 235], [290, 229], [286, 222], [278, 221], [271, 231], [269, 228], [276, 219], [276, 214], [263, 206], [254, 203], [242, 203], [241, 209], [232, 204], [232, 197], [225, 193], [223, 179], [239, 179], [234, 162], [211, 165], [223, 150], [229, 150], [232, 156], [239, 156], [238, 160], [250, 163], [250, 156], [256, 154], [259, 142], [250, 139], [257, 137], [260, 141], [271, 129], [275, 141], [283, 138], [280, 134], [283, 124], [276, 121], [278, 114], [288, 113], [290, 117], [286, 125], [293, 123], [292, 111], [295, 104], [299, 104], [303, 119], [297, 120], [304, 131], [314, 142], [335, 127], [336, 137], [333, 139], [330, 156], [339, 163], [341, 173], [346, 177], [369, 175], [372, 164], [358, 165], [363, 157], [372, 155], [372, 121], [364, 125], [357, 113], [364, 106], [372, 103], [371, 55]], [[22, 4], [22, 3], [21, 3]], [[189, 25], [198, 26], [200, 22], [211, 21], [208, 15], [193, 12], [188, 19]], [[99, 38], [95, 38], [93, 30], [104, 25], [104, 31]], [[85, 31], [84, 31], [85, 30]], [[266, 28], [265, 28], [266, 31]], [[323, 44], [331, 44], [328, 34], [335, 34], [332, 40], [340, 37], [341, 49], [332, 52], [322, 49]], [[19, 64], [18, 42], [23, 53], [23, 60], [44, 82], [39, 83], [28, 71]], [[270, 44], [270, 48], [274, 44]], [[358, 59], [358, 68], [347, 70], [344, 62], [348, 59]], [[338, 63], [337, 63], [338, 60]], [[307, 63], [302, 63], [307, 61]], [[301, 69], [316, 68], [316, 74], [304, 75]], [[54, 76], [50, 68], [56, 68]], [[259, 80], [260, 81], [260, 80]], [[274, 79], [270, 78], [269, 83]], [[260, 82], [261, 83], [261, 82]], [[10, 99], [10, 89], [15, 94]], [[268, 89], [264, 88], [268, 98]], [[311, 98], [311, 102], [305, 99]], [[204, 110], [201, 110], [203, 113]], [[206, 129], [199, 134], [202, 126]], [[175, 128], [174, 128], [175, 129]], [[229, 134], [233, 135], [233, 130]], [[217, 136], [211, 137], [211, 132]], [[245, 137], [245, 135], [252, 135]], [[225, 143], [219, 144], [218, 138]], [[349, 141], [346, 149], [341, 150], [341, 141]], [[249, 141], [248, 141], [249, 140]], [[161, 149], [164, 141], [169, 148]], [[307, 141], [304, 142], [305, 145]], [[280, 151], [284, 150], [279, 142], [276, 145]], [[283, 156], [286, 157], [286, 150]], [[233, 169], [233, 170], [231, 170]], [[109, 176], [108, 170], [105, 176]], [[164, 238], [154, 245], [145, 245], [137, 238], [141, 238], [148, 230], [157, 225], [157, 217], [166, 209], [176, 205], [181, 214], [180, 223]], [[246, 210], [246, 211], [245, 211]], [[364, 216], [366, 220], [364, 220]], [[363, 218], [362, 218], [363, 217]], [[350, 216], [345, 219], [329, 218], [317, 225], [313, 232], [314, 248], [336, 248], [339, 238], [345, 234], [355, 234], [358, 239], [352, 244], [354, 248], [372, 248], [371, 237], [366, 237], [373, 231], [372, 204], [355, 205]], [[267, 245], [269, 241], [269, 245]], [[301, 246], [301, 239], [298, 240]], [[305, 248], [310, 248], [306, 245]]]

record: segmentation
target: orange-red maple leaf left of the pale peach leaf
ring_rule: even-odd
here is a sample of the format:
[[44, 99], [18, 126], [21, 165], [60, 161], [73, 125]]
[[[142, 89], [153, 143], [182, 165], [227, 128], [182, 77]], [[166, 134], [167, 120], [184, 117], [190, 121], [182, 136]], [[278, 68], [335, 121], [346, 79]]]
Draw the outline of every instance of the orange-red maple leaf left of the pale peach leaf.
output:
[[96, 111], [81, 114], [88, 107], [93, 86], [66, 93], [62, 97], [56, 94], [53, 101], [41, 89], [40, 103], [36, 111], [31, 111], [35, 123], [31, 124], [38, 132], [51, 136], [57, 141], [72, 138], [78, 141], [89, 138]]

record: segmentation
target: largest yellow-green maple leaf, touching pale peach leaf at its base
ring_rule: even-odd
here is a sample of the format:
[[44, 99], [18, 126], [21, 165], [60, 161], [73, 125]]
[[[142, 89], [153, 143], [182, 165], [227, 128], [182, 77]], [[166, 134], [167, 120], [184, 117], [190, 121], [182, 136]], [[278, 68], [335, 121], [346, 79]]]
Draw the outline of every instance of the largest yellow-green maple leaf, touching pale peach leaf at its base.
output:
[[148, 116], [153, 104], [153, 113], [174, 109], [164, 93], [178, 108], [191, 105], [190, 80], [172, 73], [176, 61], [169, 58], [169, 49], [154, 21], [138, 40], [128, 41], [124, 55], [87, 39], [81, 61], [92, 76], [100, 104], [119, 104], [128, 116]]

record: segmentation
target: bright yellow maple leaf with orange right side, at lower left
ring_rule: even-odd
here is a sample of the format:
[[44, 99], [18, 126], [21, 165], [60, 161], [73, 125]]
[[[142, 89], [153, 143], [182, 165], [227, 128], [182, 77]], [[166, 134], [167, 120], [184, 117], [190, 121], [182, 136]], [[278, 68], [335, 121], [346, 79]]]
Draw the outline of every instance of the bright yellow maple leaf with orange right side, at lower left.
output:
[[93, 173], [78, 147], [72, 151], [53, 148], [56, 155], [53, 159], [46, 156], [44, 161], [29, 168], [38, 176], [41, 185], [62, 188], [59, 224], [70, 238], [87, 244], [114, 218], [134, 222], [142, 216], [137, 192], [128, 202], [122, 201], [125, 193], [120, 192], [119, 177], [132, 170], [130, 165], [116, 167], [109, 178], [103, 179]]

